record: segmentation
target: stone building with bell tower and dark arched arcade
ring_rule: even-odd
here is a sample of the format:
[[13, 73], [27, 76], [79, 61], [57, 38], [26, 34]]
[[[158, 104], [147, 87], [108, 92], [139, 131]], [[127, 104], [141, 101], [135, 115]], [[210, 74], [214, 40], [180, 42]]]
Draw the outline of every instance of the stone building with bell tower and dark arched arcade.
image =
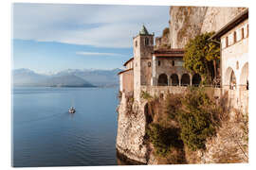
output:
[[[197, 86], [201, 77], [183, 67], [183, 49], [154, 49], [154, 34], [145, 26], [133, 39], [134, 57], [123, 65], [119, 73], [120, 92], [133, 93], [139, 99], [144, 86]], [[133, 86], [132, 86], [133, 84]]]

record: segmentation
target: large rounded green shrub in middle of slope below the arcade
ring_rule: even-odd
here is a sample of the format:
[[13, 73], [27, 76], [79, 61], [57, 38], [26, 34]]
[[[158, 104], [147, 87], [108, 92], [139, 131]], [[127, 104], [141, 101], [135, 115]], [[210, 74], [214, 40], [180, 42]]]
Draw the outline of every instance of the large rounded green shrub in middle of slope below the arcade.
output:
[[177, 120], [181, 128], [181, 139], [192, 150], [204, 149], [207, 138], [215, 134], [218, 108], [207, 93], [192, 89], [181, 100]]

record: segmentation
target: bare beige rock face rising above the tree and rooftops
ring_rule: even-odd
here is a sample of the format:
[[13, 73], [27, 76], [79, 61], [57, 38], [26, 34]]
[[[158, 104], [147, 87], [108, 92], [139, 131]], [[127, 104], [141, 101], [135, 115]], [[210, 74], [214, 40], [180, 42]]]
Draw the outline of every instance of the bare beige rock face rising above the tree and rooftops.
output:
[[218, 31], [245, 8], [171, 7], [170, 43], [172, 48], [185, 44], [200, 33]]

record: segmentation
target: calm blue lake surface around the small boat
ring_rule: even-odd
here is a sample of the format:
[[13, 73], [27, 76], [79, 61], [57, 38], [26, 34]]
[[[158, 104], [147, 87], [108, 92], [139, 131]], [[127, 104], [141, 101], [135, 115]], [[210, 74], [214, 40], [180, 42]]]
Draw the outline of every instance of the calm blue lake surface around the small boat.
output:
[[[115, 165], [118, 88], [14, 88], [13, 166]], [[68, 113], [73, 105], [77, 112]]]

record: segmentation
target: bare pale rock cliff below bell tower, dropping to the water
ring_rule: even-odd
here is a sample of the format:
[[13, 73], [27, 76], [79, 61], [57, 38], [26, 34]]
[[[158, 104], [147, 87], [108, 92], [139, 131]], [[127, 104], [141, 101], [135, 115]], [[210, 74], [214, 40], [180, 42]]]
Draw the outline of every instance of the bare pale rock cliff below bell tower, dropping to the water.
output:
[[119, 154], [128, 159], [147, 163], [147, 148], [144, 144], [146, 120], [141, 106], [134, 102], [132, 94], [122, 93], [118, 108], [116, 147]]

